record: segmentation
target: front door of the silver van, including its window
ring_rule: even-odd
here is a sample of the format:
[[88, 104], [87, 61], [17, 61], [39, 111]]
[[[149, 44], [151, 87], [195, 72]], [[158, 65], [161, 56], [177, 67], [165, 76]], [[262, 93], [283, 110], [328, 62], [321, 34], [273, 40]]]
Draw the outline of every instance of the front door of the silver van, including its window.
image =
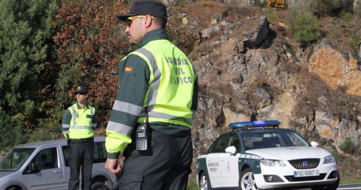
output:
[[[64, 190], [64, 173], [59, 166], [59, 154], [58, 146], [44, 147], [38, 151], [23, 173], [28, 189]], [[34, 166], [32, 171], [30, 164]]]

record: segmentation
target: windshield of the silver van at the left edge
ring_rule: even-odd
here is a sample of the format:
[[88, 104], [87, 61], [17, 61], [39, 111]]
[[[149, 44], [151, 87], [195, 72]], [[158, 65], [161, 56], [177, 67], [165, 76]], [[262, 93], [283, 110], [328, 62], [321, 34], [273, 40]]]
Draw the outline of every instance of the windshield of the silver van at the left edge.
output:
[[0, 172], [17, 171], [35, 148], [14, 148], [0, 161]]

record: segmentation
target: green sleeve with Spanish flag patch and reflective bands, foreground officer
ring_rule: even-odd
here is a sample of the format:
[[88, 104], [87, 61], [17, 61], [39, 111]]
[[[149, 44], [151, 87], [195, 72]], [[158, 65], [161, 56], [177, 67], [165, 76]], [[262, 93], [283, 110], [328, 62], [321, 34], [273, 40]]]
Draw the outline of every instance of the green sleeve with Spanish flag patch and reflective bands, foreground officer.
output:
[[142, 111], [148, 91], [150, 70], [138, 55], [129, 55], [119, 62], [119, 90], [106, 127], [105, 147], [108, 158], [116, 159], [131, 143], [130, 135]]

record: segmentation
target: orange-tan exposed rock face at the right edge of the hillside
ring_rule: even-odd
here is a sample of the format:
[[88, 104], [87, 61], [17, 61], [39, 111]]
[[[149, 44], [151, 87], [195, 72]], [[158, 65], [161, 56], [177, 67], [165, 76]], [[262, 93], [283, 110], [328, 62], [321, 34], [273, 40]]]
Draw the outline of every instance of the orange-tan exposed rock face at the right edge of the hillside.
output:
[[361, 71], [352, 55], [340, 52], [329, 40], [322, 39], [308, 57], [309, 71], [317, 73], [332, 88], [345, 86], [348, 94], [361, 95]]

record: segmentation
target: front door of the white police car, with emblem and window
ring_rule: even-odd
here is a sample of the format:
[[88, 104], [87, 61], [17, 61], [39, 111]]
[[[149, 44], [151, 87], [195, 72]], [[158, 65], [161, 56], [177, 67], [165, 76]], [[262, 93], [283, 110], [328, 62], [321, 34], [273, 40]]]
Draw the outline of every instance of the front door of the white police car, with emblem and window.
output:
[[231, 153], [222, 153], [221, 156], [221, 180], [223, 182], [222, 187], [238, 187], [239, 170], [238, 159], [240, 156], [240, 141], [236, 133], [230, 133], [225, 143], [225, 149], [227, 147], [236, 147], [236, 155]]

